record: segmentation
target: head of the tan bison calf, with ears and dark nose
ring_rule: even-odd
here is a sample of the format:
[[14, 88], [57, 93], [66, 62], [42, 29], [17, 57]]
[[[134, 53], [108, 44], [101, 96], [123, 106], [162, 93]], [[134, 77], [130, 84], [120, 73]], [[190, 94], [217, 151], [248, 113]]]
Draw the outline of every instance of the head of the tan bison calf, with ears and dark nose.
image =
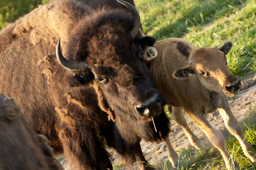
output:
[[176, 78], [186, 78], [195, 74], [200, 82], [209, 90], [234, 96], [241, 88], [239, 78], [231, 74], [227, 67], [226, 54], [232, 47], [231, 42], [221, 47], [199, 48], [192, 51], [189, 56], [188, 66], [173, 73]]

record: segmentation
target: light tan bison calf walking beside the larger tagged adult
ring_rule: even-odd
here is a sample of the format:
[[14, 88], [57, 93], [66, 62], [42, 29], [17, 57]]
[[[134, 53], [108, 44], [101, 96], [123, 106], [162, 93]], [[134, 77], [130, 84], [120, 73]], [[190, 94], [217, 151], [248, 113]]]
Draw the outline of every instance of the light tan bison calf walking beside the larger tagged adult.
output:
[[[169, 112], [185, 131], [191, 145], [200, 150], [201, 141], [189, 129], [182, 108], [221, 151], [227, 169], [240, 169], [238, 163], [230, 157], [221, 131], [207, 120], [207, 113], [218, 108], [227, 129], [241, 143], [246, 157], [256, 162], [255, 154], [252, 153], [255, 149], [244, 138], [226, 96], [236, 95], [241, 88], [240, 80], [227, 67], [225, 55], [230, 51], [232, 43], [227, 42], [219, 48], [196, 48], [188, 41], [170, 38], [158, 41], [154, 46], [158, 56], [147, 62], [147, 66], [168, 104]], [[175, 156], [176, 153], [170, 151], [170, 160], [177, 165], [178, 159]]]

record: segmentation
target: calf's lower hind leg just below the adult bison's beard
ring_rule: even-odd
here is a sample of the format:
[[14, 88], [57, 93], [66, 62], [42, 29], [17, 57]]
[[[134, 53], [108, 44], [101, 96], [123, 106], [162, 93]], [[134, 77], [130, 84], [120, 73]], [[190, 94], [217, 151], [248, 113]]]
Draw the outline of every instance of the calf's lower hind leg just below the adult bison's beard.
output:
[[169, 137], [167, 136], [163, 140], [165, 141], [165, 144], [167, 147], [169, 161], [172, 163], [173, 167], [178, 167], [179, 157], [178, 157], [177, 152], [173, 149], [173, 146], [172, 146], [172, 143], [171, 143]]

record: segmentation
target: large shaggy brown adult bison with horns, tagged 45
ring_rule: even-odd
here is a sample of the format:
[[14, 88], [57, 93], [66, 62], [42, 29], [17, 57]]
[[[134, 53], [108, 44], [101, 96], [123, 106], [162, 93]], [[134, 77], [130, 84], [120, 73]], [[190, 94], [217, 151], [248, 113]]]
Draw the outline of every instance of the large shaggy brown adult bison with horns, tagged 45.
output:
[[33, 130], [74, 169], [112, 169], [105, 143], [127, 163], [153, 169], [140, 139], [169, 134], [164, 102], [140, 58], [155, 39], [140, 38], [139, 13], [123, 3], [132, 17], [53, 1], [0, 32], [0, 92], [15, 97]]

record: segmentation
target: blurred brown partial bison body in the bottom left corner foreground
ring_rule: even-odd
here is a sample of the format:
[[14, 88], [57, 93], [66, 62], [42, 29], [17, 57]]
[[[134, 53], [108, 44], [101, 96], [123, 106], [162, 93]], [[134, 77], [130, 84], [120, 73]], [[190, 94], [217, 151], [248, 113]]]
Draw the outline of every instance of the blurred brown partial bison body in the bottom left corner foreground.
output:
[[47, 143], [31, 129], [14, 99], [0, 94], [0, 169], [62, 170]]

